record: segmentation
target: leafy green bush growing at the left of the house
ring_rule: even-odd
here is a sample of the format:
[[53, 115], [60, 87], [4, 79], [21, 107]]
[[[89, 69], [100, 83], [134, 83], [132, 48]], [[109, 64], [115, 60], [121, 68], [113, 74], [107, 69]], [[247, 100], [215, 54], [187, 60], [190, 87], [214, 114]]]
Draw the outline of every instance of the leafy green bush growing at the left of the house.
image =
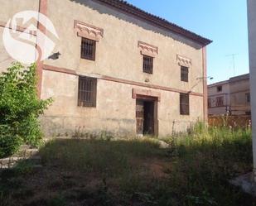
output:
[[17, 151], [24, 143], [38, 146], [41, 129], [38, 117], [51, 103], [36, 93], [36, 65], [26, 69], [14, 63], [0, 74], [0, 158]]

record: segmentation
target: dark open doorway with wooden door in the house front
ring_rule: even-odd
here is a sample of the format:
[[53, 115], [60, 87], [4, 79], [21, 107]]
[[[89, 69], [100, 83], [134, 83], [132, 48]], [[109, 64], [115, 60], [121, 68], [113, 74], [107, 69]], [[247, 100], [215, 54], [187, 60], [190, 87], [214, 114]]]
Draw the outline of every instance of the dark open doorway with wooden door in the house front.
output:
[[156, 135], [157, 101], [136, 100], [136, 121], [138, 135]]

